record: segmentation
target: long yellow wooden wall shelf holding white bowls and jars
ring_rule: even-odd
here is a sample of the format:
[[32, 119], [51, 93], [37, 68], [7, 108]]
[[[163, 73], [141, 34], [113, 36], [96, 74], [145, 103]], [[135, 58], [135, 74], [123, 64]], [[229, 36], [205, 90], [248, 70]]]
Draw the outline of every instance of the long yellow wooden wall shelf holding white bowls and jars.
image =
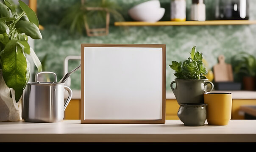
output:
[[256, 24], [256, 20], [214, 20], [214, 21], [159, 21], [159, 22], [115, 22], [115, 26], [170, 26], [170, 25], [245, 25]]

